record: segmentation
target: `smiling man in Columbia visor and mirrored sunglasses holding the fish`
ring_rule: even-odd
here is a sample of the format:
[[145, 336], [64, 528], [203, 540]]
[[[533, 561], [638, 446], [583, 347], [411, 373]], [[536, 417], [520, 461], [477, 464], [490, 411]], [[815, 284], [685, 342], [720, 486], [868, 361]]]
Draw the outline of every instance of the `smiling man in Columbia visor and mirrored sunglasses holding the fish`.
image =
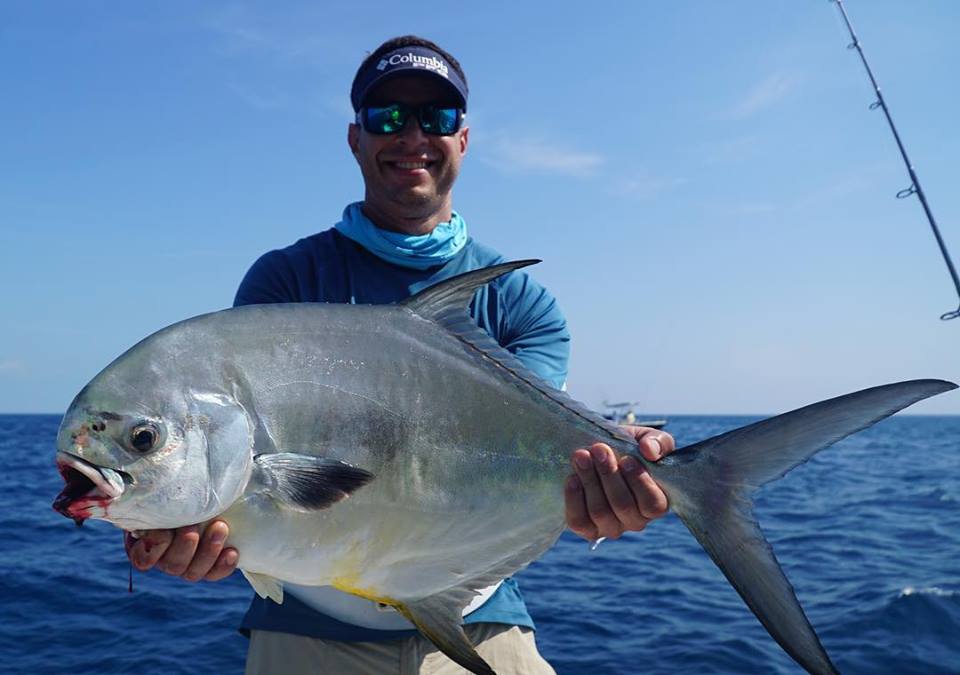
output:
[[[360, 65], [351, 90], [356, 112], [347, 140], [363, 174], [363, 202], [343, 219], [261, 257], [236, 305], [267, 302], [389, 303], [455, 274], [503, 258], [467, 235], [452, 188], [466, 155], [467, 83], [459, 63], [414, 36], [389, 40]], [[555, 301], [525, 272], [478, 291], [471, 316], [502, 346], [556, 387], [567, 373], [569, 335]], [[673, 450], [669, 434], [635, 429], [651, 460]], [[667, 508], [642, 466], [609, 446], [575, 450], [566, 489], [571, 530], [595, 540], [642, 530]], [[242, 551], [224, 548], [216, 521], [128, 539], [140, 570], [157, 567], [190, 581], [218, 580]], [[551, 673], [536, 651], [533, 622], [516, 583], [483, 589], [465, 611], [465, 629], [501, 675]], [[395, 612], [332, 588], [299, 589], [283, 605], [255, 598], [243, 622], [251, 635], [247, 672], [461, 672]]]

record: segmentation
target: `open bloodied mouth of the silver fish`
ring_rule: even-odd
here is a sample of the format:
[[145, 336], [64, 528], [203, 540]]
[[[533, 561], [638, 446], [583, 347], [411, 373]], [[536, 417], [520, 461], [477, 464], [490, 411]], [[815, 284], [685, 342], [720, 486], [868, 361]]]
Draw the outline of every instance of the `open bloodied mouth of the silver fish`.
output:
[[127, 484], [133, 483], [128, 473], [91, 464], [68, 452], [57, 453], [57, 470], [64, 486], [53, 508], [77, 525], [87, 518], [106, 516], [108, 506], [123, 494]]

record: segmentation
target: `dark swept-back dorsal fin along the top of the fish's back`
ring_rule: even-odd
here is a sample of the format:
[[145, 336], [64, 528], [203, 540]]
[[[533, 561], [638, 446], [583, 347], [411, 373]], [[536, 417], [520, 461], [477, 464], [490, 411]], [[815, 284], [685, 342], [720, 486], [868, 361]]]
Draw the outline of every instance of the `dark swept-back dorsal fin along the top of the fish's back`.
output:
[[420, 291], [402, 301], [400, 305], [418, 316], [437, 322], [450, 331], [455, 338], [468, 345], [474, 355], [486, 362], [488, 366], [494, 366], [499, 370], [504, 377], [513, 382], [517, 379], [522, 380], [540, 395], [579, 418], [582, 423], [593, 427], [595, 431], [600, 432], [597, 440], [604, 440], [603, 437], [606, 436], [608, 439], [636, 444], [636, 440], [627, 431], [544, 382], [523, 365], [520, 359], [497, 344], [497, 341], [474, 323], [467, 313], [473, 293], [478, 288], [508, 272], [538, 262], [540, 261], [535, 259], [517, 260], [459, 274]]

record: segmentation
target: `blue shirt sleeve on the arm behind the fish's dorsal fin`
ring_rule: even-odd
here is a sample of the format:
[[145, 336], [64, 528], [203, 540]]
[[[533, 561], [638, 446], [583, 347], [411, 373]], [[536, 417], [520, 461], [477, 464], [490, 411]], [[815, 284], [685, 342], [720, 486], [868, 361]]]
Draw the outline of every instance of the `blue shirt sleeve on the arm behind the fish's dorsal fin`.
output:
[[527, 368], [563, 389], [570, 360], [570, 331], [557, 301], [526, 274], [504, 284], [502, 346]]

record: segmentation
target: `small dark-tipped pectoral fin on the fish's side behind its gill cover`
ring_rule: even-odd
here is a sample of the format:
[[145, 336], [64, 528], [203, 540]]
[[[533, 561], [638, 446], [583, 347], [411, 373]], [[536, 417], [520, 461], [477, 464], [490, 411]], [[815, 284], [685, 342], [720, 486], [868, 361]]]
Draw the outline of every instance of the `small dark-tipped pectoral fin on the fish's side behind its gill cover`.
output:
[[363, 487], [373, 474], [325, 457], [277, 452], [257, 455], [257, 491], [298, 510], [325, 509]]

